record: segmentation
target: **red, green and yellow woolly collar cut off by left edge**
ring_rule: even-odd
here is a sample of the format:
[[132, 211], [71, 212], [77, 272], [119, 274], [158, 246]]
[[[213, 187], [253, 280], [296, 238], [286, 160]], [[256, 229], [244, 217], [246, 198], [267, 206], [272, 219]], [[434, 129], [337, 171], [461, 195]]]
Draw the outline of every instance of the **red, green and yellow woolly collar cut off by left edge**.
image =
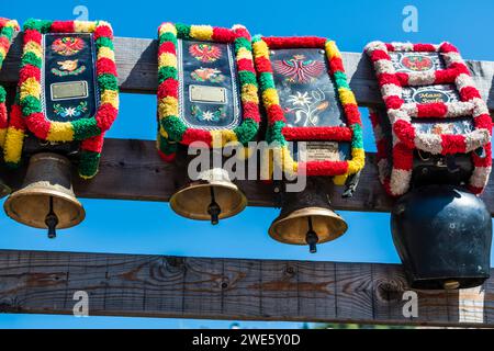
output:
[[[0, 18], [0, 69], [2, 69], [3, 60], [12, 44], [14, 31], [19, 31], [19, 24], [15, 20]], [[7, 92], [3, 87], [0, 86], [0, 148], [3, 147], [7, 128], [9, 126], [5, 99]]]

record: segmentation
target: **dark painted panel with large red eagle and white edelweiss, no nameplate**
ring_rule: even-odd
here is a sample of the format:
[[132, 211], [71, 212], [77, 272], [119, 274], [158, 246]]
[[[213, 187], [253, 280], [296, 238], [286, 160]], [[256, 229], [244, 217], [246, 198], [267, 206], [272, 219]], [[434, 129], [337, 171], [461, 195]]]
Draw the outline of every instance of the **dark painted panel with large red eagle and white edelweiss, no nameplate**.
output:
[[289, 127], [341, 126], [346, 116], [326, 54], [317, 48], [277, 49], [270, 53], [274, 84]]

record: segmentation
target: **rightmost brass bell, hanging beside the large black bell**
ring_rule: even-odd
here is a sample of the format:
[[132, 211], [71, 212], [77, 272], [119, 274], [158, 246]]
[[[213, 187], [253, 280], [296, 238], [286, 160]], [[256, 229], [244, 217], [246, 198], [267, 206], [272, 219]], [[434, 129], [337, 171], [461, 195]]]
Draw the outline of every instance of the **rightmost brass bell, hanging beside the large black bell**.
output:
[[308, 178], [302, 192], [283, 192], [282, 196], [281, 213], [269, 227], [273, 239], [308, 245], [310, 252], [315, 253], [317, 244], [334, 240], [347, 231], [347, 223], [333, 211], [319, 179]]

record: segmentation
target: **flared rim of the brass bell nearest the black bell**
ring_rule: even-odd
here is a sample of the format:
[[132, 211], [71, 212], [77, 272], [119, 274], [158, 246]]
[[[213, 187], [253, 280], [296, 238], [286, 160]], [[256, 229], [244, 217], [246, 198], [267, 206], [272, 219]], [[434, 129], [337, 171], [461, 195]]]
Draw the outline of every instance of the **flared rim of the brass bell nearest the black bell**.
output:
[[312, 212], [311, 217], [317, 217], [317, 216], [327, 217], [329, 215], [330, 217], [336, 218], [336, 219], [338, 219], [341, 223], [341, 227], [340, 227], [341, 230], [335, 231], [333, 235], [322, 236], [319, 233], [316, 233], [317, 236], [319, 237], [319, 241], [317, 244], [324, 244], [324, 242], [336, 240], [336, 239], [338, 239], [340, 236], [343, 236], [348, 230], [348, 224], [336, 212], [334, 212], [332, 210], [328, 210], [328, 208], [323, 208], [323, 207], [304, 207], [304, 208], [300, 208], [300, 210], [296, 210], [296, 211], [292, 212], [287, 217], [280, 218], [281, 216], [278, 216], [271, 223], [271, 226], [268, 229], [269, 236], [271, 238], [273, 238], [274, 240], [283, 242], [283, 244], [306, 246], [307, 242], [305, 241], [305, 237], [304, 238], [301, 237], [301, 241], [300, 242], [293, 242], [293, 241], [290, 241], [290, 240], [285, 240], [284, 239], [285, 236], [278, 235], [276, 233], [276, 230], [274, 230], [274, 227], [278, 226], [280, 223], [283, 223], [283, 222], [287, 222], [287, 220], [291, 220], [291, 219], [294, 219], [294, 218], [297, 218], [297, 217], [308, 217], [307, 216], [307, 212]]

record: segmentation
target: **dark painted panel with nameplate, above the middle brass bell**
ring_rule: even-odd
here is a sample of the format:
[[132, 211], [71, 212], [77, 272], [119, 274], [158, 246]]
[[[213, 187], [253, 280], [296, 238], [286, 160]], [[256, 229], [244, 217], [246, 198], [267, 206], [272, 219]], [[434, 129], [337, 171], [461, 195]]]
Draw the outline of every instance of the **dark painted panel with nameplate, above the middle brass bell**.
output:
[[233, 129], [242, 123], [233, 44], [179, 41], [179, 116], [199, 129]]

